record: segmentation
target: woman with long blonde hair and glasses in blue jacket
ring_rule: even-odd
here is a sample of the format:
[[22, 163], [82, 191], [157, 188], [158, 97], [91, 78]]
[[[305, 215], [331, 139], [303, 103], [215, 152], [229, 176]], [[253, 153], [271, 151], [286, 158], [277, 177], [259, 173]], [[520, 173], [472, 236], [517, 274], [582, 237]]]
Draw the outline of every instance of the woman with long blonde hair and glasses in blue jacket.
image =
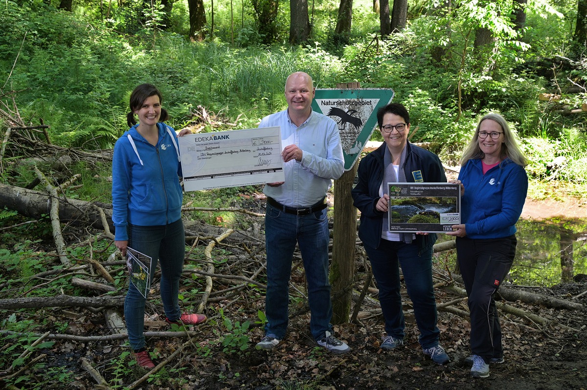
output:
[[504, 362], [501, 327], [494, 293], [514, 261], [515, 223], [528, 191], [520, 151], [504, 117], [487, 114], [463, 152], [458, 184], [461, 184], [461, 224], [457, 236], [457, 260], [467, 290], [471, 316], [471, 376], [489, 376], [489, 363]]

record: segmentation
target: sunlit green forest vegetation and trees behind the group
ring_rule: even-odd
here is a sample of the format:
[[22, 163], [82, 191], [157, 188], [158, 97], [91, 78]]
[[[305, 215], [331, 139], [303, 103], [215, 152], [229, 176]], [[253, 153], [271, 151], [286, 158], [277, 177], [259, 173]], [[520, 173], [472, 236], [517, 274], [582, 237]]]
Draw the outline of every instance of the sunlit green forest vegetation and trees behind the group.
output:
[[[411, 141], [430, 143], [451, 167], [458, 166], [478, 118], [497, 111], [529, 158], [533, 198], [586, 193], [587, 0], [5, 0], [0, 8], [0, 109], [28, 126], [48, 125], [46, 137], [55, 145], [112, 148], [127, 130], [130, 92], [144, 82], [162, 91], [176, 130], [256, 127], [286, 107], [286, 76], [303, 70], [318, 88], [360, 82], [393, 89], [417, 128]], [[4, 134], [11, 124], [2, 121]], [[377, 132], [373, 140], [381, 140]], [[34, 183], [35, 161], [23, 163], [5, 144], [0, 181]], [[111, 202], [109, 164], [77, 161], [68, 168], [82, 185], [65, 195]], [[185, 202], [234, 206], [242, 191], [190, 193]], [[49, 217], [33, 226], [3, 206], [0, 225], [16, 227], [0, 230], [0, 270], [9, 276], [1, 288], [14, 296], [23, 277], [59, 265], [40, 255], [52, 240]], [[221, 226], [235, 221], [230, 212], [194, 211], [190, 218]], [[112, 252], [107, 239], [92, 245], [89, 252], [75, 245], [68, 250], [104, 259]], [[72, 292], [65, 283], [33, 295], [63, 289]], [[2, 328], [39, 325], [38, 318], [6, 313]], [[0, 361], [18, 368], [25, 359], [16, 347], [28, 342], [6, 344], [15, 350]], [[51, 382], [66, 374], [35, 375]], [[9, 383], [29, 377], [16, 379]]]

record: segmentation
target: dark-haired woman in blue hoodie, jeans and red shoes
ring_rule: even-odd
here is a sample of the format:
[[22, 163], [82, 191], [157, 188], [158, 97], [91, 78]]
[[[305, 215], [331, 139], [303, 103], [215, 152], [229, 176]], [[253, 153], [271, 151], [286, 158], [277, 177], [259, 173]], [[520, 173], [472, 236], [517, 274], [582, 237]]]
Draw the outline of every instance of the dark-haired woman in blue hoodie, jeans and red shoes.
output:
[[[112, 161], [114, 244], [122, 256], [126, 256], [127, 248], [150, 256], [151, 280], [158, 261], [167, 323], [195, 325], [206, 317], [182, 314], [178, 304], [185, 257], [181, 164], [177, 135], [163, 123], [168, 115], [161, 107], [162, 100], [160, 91], [151, 84], [137, 86], [130, 95], [130, 128], [116, 141]], [[135, 116], [139, 118], [138, 124]], [[141, 367], [153, 368], [143, 334], [145, 302], [146, 298], [129, 283], [124, 317], [130, 347]]]

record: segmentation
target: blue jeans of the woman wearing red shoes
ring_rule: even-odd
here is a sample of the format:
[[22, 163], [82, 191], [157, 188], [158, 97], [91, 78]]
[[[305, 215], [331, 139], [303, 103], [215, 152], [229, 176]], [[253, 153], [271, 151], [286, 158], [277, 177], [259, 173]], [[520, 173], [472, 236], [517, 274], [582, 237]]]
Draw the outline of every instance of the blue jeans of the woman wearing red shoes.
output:
[[[163, 226], [129, 225], [128, 232], [129, 246], [153, 258], [151, 281], [153, 281], [158, 260], [161, 268], [161, 300], [165, 315], [170, 320], [177, 320], [181, 316], [177, 296], [185, 257], [183, 221], [178, 219], [176, 222]], [[133, 350], [145, 346], [143, 334], [145, 302], [146, 298], [134, 287], [134, 284], [129, 283], [129, 291], [124, 299], [124, 318], [130, 347]]]

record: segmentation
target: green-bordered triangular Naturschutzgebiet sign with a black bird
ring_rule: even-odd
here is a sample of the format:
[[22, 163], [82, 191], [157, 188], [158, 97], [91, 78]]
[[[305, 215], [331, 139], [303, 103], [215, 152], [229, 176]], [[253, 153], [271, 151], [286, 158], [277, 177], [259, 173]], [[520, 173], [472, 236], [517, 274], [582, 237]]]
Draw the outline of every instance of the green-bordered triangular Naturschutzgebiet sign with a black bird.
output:
[[377, 110], [392, 101], [392, 89], [317, 89], [312, 110], [338, 124], [345, 154], [345, 171], [355, 165], [373, 130]]

